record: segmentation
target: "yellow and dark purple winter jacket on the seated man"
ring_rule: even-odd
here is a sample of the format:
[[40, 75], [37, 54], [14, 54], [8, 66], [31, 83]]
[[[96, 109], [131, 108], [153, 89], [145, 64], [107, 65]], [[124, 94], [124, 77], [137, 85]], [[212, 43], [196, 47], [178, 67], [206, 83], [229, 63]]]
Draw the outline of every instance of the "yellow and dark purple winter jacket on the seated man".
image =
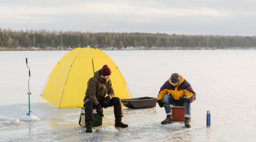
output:
[[163, 100], [163, 96], [166, 94], [171, 95], [172, 98], [174, 98], [175, 100], [180, 100], [180, 97], [184, 97], [184, 95], [186, 95], [189, 103], [192, 103], [196, 100], [195, 91], [183, 76], [180, 75], [180, 81], [175, 87], [172, 86], [172, 82], [170, 81], [170, 79], [166, 81], [160, 88], [158, 100]]

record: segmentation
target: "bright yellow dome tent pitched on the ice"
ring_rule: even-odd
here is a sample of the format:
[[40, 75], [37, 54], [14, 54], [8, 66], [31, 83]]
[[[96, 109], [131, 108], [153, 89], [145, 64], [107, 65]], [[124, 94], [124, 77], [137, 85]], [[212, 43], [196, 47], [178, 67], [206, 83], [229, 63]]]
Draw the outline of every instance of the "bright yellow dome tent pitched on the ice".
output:
[[130, 98], [125, 79], [117, 65], [104, 52], [89, 47], [74, 49], [55, 65], [42, 97], [58, 108], [82, 107], [89, 78], [105, 64], [112, 70], [110, 78], [115, 96]]

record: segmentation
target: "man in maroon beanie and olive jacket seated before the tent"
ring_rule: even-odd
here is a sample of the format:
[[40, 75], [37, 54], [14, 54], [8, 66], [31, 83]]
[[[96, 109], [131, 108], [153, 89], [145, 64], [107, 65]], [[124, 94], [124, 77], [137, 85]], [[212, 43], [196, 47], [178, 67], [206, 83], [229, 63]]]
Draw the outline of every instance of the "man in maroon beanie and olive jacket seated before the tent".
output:
[[[102, 66], [100, 70], [94, 73], [87, 83], [87, 90], [84, 97], [85, 107], [85, 126], [86, 132], [92, 132], [93, 108], [101, 116], [102, 107], [114, 106], [115, 127], [126, 128], [127, 124], [122, 123], [122, 105], [118, 97], [114, 97], [114, 90], [110, 80], [111, 70], [108, 65]], [[106, 94], [108, 94], [106, 96]], [[106, 97], [105, 97], [106, 96]]]

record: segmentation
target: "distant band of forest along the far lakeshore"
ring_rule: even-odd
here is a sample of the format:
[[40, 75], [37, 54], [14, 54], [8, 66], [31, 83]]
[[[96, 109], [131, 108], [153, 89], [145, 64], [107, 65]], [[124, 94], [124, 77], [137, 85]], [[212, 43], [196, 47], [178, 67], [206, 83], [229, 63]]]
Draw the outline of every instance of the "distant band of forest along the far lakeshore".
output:
[[256, 47], [256, 36], [218, 36], [218, 35], [168, 35], [148, 34], [138, 32], [73, 32], [46, 30], [6, 30], [0, 28], [1, 48], [39, 48], [64, 49], [85, 47], [96, 48], [129, 48], [144, 47], [144, 49], [182, 49], [205, 48], [250, 48]]

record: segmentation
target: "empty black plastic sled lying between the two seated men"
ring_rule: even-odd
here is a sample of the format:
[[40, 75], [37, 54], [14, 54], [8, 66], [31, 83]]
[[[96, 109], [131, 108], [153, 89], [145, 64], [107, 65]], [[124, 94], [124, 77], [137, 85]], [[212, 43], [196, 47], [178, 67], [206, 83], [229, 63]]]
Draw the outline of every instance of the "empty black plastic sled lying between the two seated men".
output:
[[122, 99], [121, 102], [123, 106], [129, 107], [129, 108], [151, 108], [155, 107], [156, 105], [156, 99], [152, 97], [140, 97], [140, 98], [131, 98], [131, 99]]

